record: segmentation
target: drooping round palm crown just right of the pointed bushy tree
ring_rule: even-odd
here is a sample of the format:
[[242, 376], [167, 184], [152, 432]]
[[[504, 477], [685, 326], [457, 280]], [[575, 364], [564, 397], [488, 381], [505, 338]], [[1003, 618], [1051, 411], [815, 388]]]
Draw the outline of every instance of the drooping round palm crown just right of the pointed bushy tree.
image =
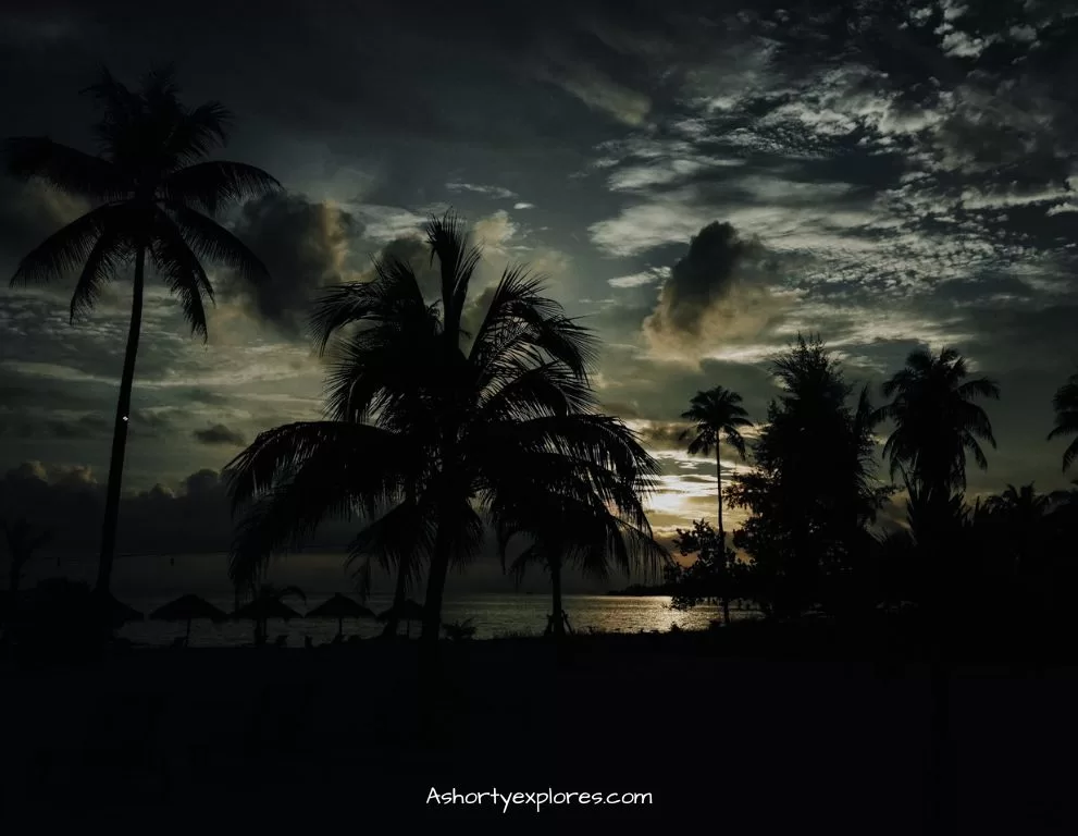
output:
[[969, 378], [966, 359], [954, 348], [932, 355], [924, 348], [912, 352], [905, 368], [883, 383], [883, 395], [892, 398], [877, 417], [894, 422], [883, 445], [892, 477], [900, 467], [912, 482], [931, 496], [950, 496], [966, 488], [966, 454], [980, 468], [988, 459], [980, 441], [993, 447], [995, 438], [984, 409], [976, 398], [998, 399], [1000, 388], [989, 378]]

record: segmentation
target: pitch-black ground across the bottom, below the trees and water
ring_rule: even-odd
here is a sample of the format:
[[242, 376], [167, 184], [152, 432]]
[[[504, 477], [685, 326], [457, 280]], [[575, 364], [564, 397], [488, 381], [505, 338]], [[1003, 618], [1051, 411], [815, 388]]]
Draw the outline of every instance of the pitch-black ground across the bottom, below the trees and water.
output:
[[[4, 819], [250, 832], [444, 826], [925, 833], [926, 667], [739, 657], [703, 639], [445, 644], [433, 742], [413, 643], [128, 651], [3, 676]], [[958, 833], [1075, 833], [1078, 667], [952, 681]], [[650, 804], [429, 803], [650, 792]], [[22, 831], [20, 831], [22, 832]], [[570, 829], [570, 832], [575, 832]]]

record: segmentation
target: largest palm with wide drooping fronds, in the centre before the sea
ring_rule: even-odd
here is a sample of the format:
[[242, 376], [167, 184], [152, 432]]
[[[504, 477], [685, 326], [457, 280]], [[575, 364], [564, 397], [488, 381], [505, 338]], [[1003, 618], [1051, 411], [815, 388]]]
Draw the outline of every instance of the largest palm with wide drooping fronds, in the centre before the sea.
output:
[[498, 525], [513, 507], [498, 497], [517, 495], [521, 480], [550, 490], [602, 468], [646, 491], [658, 466], [620, 420], [595, 411], [595, 340], [543, 295], [541, 280], [506, 269], [468, 334], [461, 320], [480, 251], [451, 212], [426, 233], [439, 298], [424, 299], [411, 266], [395, 259], [376, 261], [372, 281], [327, 294], [315, 340], [336, 335], [343, 347], [326, 420], [262, 433], [227, 472], [234, 506], [256, 507], [234, 577], [256, 576], [272, 551], [330, 515], [359, 513], [379, 527], [360, 534], [354, 554], [400, 553], [400, 532], [418, 536], [430, 557], [422, 639], [431, 650], [448, 568], [482, 543], [480, 512]]

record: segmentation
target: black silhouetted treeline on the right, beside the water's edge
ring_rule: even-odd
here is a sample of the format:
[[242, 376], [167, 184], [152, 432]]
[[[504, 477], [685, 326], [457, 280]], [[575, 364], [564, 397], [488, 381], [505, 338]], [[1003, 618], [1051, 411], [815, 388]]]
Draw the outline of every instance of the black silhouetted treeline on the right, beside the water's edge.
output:
[[[868, 389], [854, 396], [818, 336], [798, 339], [773, 371], [782, 393], [749, 445], [754, 467], [724, 492], [748, 517], [732, 542], [706, 520], [679, 529], [676, 549], [694, 560], [667, 569], [676, 606], [749, 601], [781, 620], [813, 612], [926, 614], [939, 605], [970, 631], [1073, 626], [1078, 489], [1042, 494], [1033, 484], [1008, 484], [972, 503], [965, 495], [967, 457], [987, 468], [982, 444], [995, 446], [978, 403], [1000, 397], [994, 382], [971, 377], [952, 348], [920, 349], [883, 384], [884, 401], [873, 407]], [[1078, 376], [1056, 394], [1050, 439], [1078, 431], [1076, 390]], [[717, 407], [704, 416], [698, 405], [708, 395]], [[718, 388], [698, 394], [685, 415], [710, 422], [713, 438], [730, 435], [738, 432], [731, 417], [745, 427], [739, 402]], [[884, 427], [888, 472], [880, 474], [876, 433]], [[690, 453], [701, 452], [699, 438]], [[1064, 470], [1076, 444], [1064, 454]], [[876, 530], [877, 513], [899, 492], [905, 527]]]

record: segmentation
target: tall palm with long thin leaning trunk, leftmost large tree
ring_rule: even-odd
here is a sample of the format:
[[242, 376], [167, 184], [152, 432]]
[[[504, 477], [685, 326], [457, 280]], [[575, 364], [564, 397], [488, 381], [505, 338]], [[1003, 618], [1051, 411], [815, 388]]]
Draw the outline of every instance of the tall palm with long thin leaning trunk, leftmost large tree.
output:
[[280, 184], [252, 165], [203, 159], [224, 144], [231, 115], [215, 101], [196, 108], [182, 104], [168, 72], [151, 73], [140, 90], [132, 91], [106, 71], [87, 91], [102, 114], [96, 126], [98, 153], [48, 137], [15, 137], [7, 140], [3, 157], [12, 175], [42, 180], [95, 205], [23, 258], [12, 284], [60, 279], [78, 269], [71, 299], [74, 322], [94, 307], [106, 283], [134, 262], [97, 577], [98, 591], [108, 594], [147, 257], [178, 297], [191, 333], [206, 340], [205, 302], [213, 300], [213, 288], [203, 262], [226, 265], [250, 280], [265, 275], [258, 258], [213, 216]]

